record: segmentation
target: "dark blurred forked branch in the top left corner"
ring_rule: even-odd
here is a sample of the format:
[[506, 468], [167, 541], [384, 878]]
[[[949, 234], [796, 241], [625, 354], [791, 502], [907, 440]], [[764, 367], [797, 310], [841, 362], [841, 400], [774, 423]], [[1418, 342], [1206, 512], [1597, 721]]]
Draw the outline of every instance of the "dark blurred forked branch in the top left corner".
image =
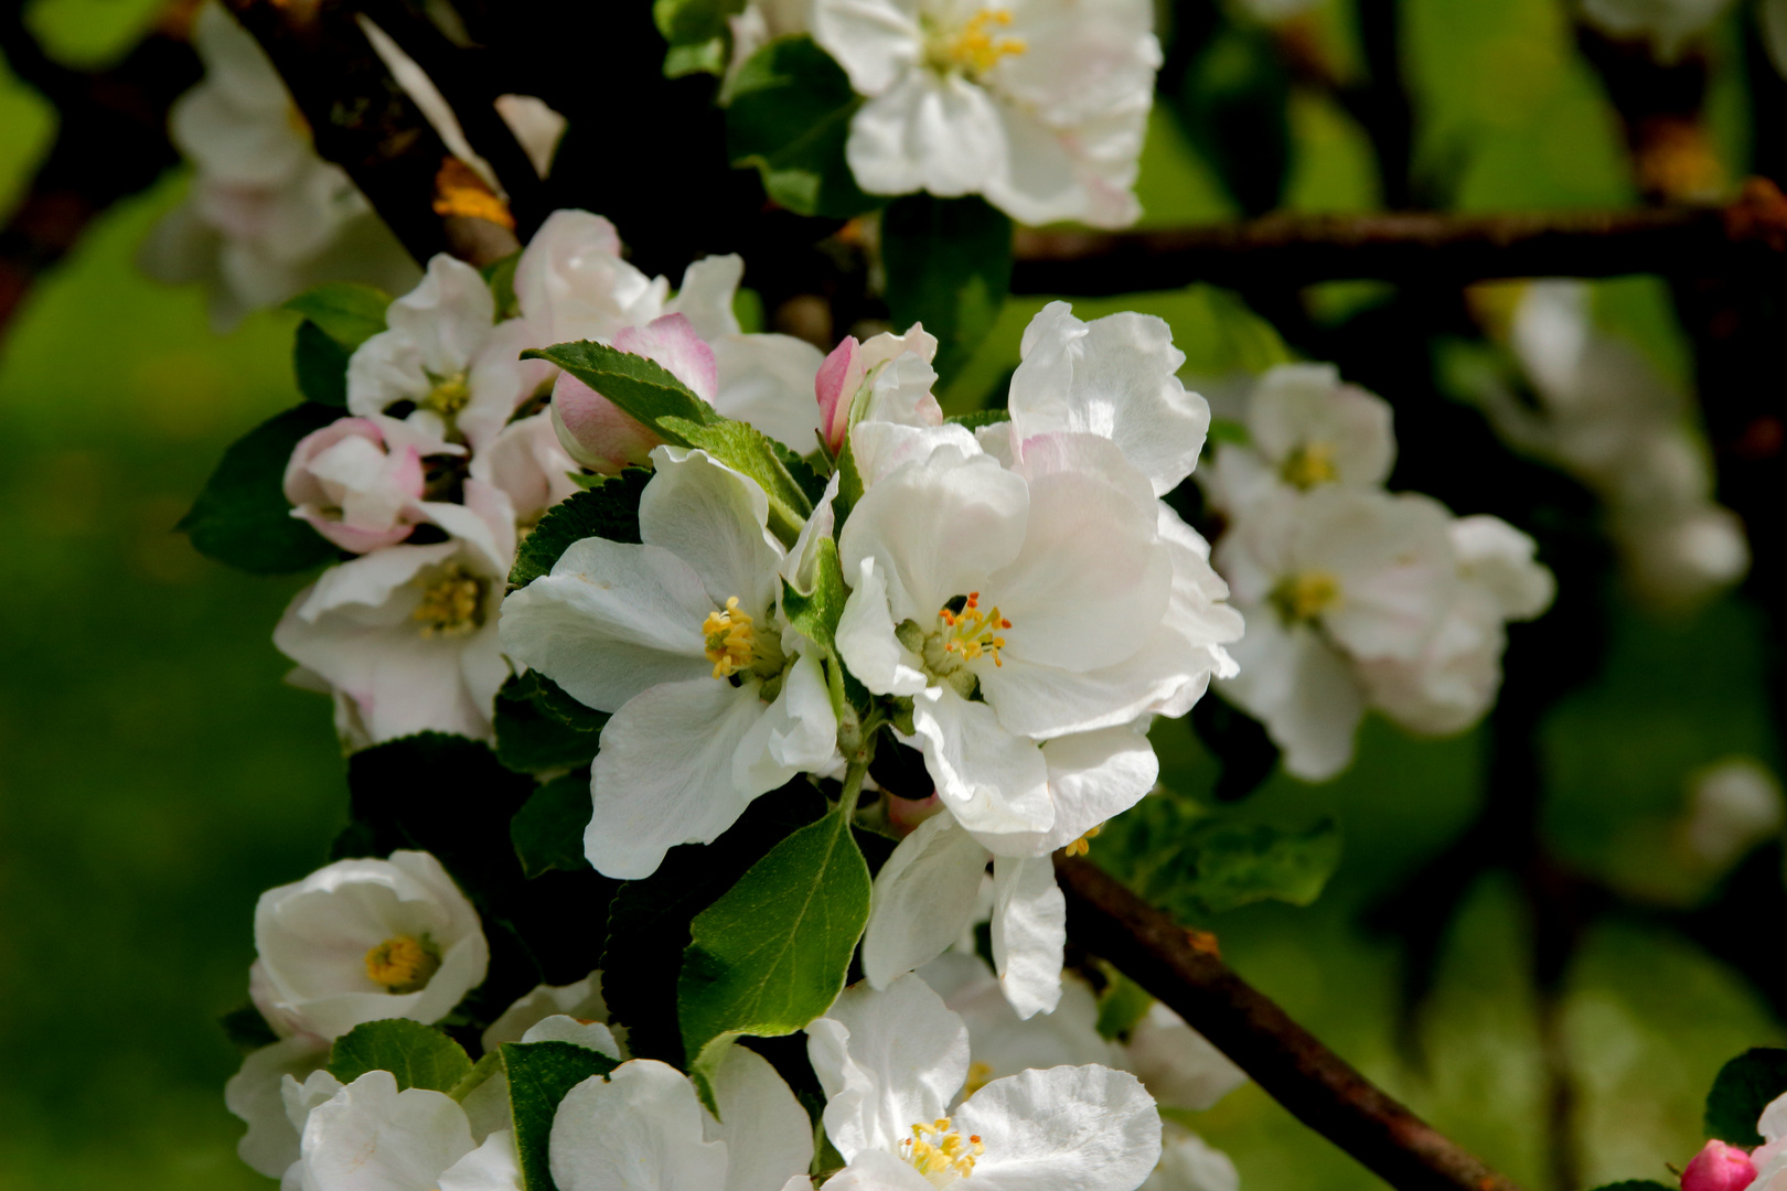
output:
[[198, 59], [184, 34], [170, 21], [111, 70], [86, 73], [43, 54], [20, 20], [20, 5], [0, 9], [0, 52], [59, 116], [55, 143], [0, 227], [0, 330], [100, 212], [148, 189], [179, 162], [166, 132], [168, 107], [198, 80]]

